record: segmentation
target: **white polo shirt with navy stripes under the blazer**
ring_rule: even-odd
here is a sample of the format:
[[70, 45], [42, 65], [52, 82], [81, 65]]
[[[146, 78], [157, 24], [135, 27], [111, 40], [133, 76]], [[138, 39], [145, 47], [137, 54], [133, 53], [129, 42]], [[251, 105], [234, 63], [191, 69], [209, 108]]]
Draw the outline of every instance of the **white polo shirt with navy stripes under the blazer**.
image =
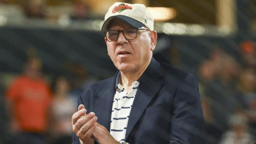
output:
[[132, 83], [133, 89], [127, 94], [127, 91], [119, 84], [120, 72], [117, 76], [116, 94], [114, 95], [110, 134], [118, 141], [124, 142], [126, 128], [129, 120], [130, 110], [132, 109], [133, 100], [137, 92], [139, 82]]

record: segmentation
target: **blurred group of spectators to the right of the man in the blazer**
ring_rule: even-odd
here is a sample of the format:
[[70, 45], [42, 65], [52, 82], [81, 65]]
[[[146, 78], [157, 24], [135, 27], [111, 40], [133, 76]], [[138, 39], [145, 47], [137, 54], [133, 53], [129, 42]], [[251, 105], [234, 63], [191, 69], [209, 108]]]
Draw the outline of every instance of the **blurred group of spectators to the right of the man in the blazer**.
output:
[[198, 79], [210, 144], [256, 142], [256, 47], [241, 42], [241, 60], [213, 49], [199, 67]]

